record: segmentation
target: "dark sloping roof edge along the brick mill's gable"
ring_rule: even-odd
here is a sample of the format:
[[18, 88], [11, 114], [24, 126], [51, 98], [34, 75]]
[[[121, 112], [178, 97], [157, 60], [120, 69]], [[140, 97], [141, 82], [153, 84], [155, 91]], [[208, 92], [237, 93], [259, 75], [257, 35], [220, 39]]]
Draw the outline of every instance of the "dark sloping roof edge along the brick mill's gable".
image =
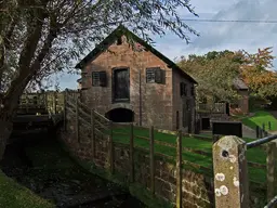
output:
[[83, 60], [81, 60], [80, 63], [76, 65], [76, 68], [82, 68], [88, 62], [93, 61], [96, 58], [96, 56], [101, 53], [103, 53], [105, 50], [108, 49], [110, 44], [115, 42], [115, 40], [118, 37], [121, 37], [122, 35], [130, 36], [134, 41], [142, 44], [146, 50], [150, 51], [153, 54], [157, 55], [160, 60], [162, 60], [164, 63], [168, 64], [168, 67], [177, 70], [181, 73], [186, 79], [192, 81], [193, 83], [197, 83], [197, 81], [190, 77], [188, 74], [186, 74], [182, 68], [180, 68], [174, 62], [169, 60], [167, 56], [161, 54], [159, 51], [154, 49], [151, 46], [149, 46], [147, 42], [145, 42], [143, 39], [141, 39], [138, 36], [127, 29], [124, 26], [120, 25], [117, 29], [115, 29], [108, 37], [106, 37], [98, 46], [94, 48], [93, 51], [91, 51]]

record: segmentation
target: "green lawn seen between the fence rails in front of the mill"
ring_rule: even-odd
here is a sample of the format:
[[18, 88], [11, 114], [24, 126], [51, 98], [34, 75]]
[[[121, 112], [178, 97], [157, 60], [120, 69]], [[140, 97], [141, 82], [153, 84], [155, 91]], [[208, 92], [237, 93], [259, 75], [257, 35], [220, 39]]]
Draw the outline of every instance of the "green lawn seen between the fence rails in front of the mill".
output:
[[[114, 130], [113, 139], [115, 142], [120, 142], [124, 144], [129, 144], [130, 142], [130, 128], [129, 127], [117, 127]], [[137, 147], [149, 148], [149, 141], [143, 138], [149, 138], [149, 130], [145, 128], [134, 128], [134, 145]], [[156, 141], [176, 144], [176, 135], [168, 134], [155, 131], [154, 139]], [[247, 142], [251, 141], [251, 139], [245, 139]], [[183, 136], [182, 141], [183, 147], [193, 148], [197, 151], [203, 151], [209, 153], [210, 156], [205, 156], [190, 152], [183, 152], [183, 160], [202, 166], [205, 168], [211, 169], [212, 172], [212, 139], [210, 141], [199, 140], [193, 136]], [[175, 157], [176, 151], [174, 147], [169, 147], [164, 145], [155, 144], [155, 152], [161, 153], [164, 155]], [[252, 148], [247, 152], [247, 158], [249, 161], [265, 164], [266, 154], [261, 148]], [[203, 169], [205, 170], [205, 169]], [[206, 170], [207, 172], [207, 170]], [[250, 179], [256, 182], [264, 183], [266, 181], [266, 172], [263, 169], [259, 168], [249, 168]]]

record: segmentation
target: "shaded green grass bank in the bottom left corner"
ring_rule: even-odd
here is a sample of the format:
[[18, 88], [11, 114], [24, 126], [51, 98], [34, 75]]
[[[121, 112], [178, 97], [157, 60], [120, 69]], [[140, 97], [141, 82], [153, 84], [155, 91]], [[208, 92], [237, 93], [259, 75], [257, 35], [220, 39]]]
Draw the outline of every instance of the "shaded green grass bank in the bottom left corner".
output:
[[17, 184], [0, 170], [0, 207], [53, 208], [54, 205], [40, 198], [28, 188]]

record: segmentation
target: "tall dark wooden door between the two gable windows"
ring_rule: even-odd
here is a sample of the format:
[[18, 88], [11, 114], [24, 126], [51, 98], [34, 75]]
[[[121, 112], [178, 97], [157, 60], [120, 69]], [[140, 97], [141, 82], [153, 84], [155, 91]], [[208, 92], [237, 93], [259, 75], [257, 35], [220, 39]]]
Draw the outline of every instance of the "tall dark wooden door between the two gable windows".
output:
[[113, 100], [114, 102], [130, 101], [129, 68], [113, 70]]

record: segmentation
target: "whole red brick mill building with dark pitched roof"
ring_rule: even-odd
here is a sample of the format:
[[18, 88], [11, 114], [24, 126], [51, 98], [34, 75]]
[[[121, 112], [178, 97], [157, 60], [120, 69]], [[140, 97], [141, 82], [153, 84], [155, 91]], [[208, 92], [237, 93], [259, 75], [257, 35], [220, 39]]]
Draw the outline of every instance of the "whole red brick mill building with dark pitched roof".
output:
[[197, 82], [126, 27], [115, 29], [76, 68], [82, 72], [81, 101], [107, 118], [194, 131]]

